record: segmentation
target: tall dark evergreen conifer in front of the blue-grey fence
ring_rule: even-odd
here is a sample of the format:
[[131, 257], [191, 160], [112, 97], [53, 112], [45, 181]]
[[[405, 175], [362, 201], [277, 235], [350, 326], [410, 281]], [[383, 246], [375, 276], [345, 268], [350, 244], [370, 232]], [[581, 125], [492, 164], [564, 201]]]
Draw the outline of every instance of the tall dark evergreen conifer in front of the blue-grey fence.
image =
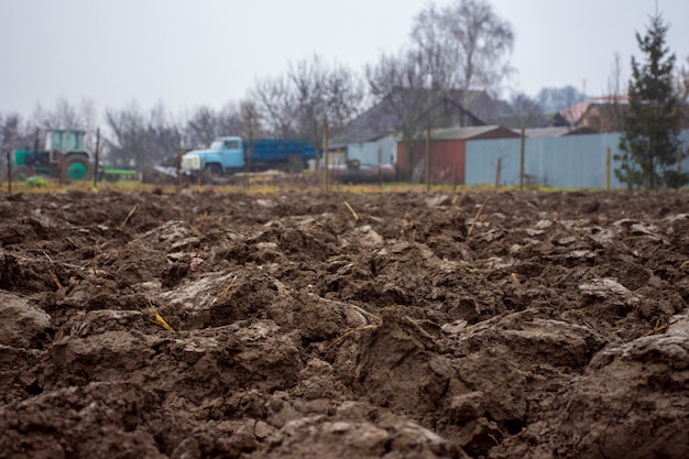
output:
[[680, 111], [672, 86], [675, 54], [668, 55], [665, 36], [668, 25], [660, 13], [650, 18], [646, 35], [636, 34], [646, 63], [632, 57], [632, 80], [628, 89], [628, 110], [620, 139], [621, 162], [615, 170], [617, 178], [628, 188], [658, 189], [679, 187], [689, 181], [677, 171]]

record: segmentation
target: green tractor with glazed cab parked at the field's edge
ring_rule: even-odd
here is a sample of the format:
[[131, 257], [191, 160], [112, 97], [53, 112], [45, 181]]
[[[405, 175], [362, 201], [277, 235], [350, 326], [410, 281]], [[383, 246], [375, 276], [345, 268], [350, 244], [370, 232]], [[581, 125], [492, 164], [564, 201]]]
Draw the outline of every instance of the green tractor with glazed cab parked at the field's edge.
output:
[[84, 146], [85, 131], [51, 129], [45, 131], [43, 150], [39, 138], [34, 150], [15, 150], [12, 156], [13, 176], [26, 179], [36, 174], [57, 177], [63, 183], [88, 178], [90, 156]]

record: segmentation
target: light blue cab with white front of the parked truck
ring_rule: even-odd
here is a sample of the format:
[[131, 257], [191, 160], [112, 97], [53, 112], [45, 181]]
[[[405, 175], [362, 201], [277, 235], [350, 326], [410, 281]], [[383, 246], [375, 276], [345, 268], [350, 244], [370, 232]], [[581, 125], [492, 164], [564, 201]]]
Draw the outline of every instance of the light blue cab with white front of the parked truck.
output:
[[189, 174], [221, 176], [244, 167], [244, 146], [238, 136], [217, 138], [205, 150], [194, 150], [182, 156], [182, 170]]

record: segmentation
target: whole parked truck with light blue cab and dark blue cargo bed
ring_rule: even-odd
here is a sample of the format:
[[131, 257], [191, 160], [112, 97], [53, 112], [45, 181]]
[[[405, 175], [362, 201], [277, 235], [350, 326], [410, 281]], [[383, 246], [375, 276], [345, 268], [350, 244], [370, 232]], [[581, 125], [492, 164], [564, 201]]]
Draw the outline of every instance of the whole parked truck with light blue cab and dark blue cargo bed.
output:
[[302, 172], [308, 160], [317, 157], [313, 144], [304, 139], [254, 139], [222, 136], [206, 150], [194, 150], [182, 156], [182, 170], [212, 183], [239, 172], [282, 170]]

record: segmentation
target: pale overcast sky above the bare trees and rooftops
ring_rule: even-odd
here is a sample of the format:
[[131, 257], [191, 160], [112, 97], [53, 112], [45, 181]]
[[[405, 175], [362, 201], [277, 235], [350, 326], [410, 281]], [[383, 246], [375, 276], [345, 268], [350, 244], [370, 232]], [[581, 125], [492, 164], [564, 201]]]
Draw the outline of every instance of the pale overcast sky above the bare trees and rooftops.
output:
[[[438, 6], [452, 0], [437, 0]], [[425, 0], [0, 0], [0, 113], [37, 105], [174, 113], [239, 101], [256, 78], [315, 53], [361, 69], [408, 43]], [[689, 1], [657, 0], [668, 45], [689, 56]], [[656, 0], [491, 0], [512, 23], [513, 89], [608, 90], [614, 54], [624, 78]]]

